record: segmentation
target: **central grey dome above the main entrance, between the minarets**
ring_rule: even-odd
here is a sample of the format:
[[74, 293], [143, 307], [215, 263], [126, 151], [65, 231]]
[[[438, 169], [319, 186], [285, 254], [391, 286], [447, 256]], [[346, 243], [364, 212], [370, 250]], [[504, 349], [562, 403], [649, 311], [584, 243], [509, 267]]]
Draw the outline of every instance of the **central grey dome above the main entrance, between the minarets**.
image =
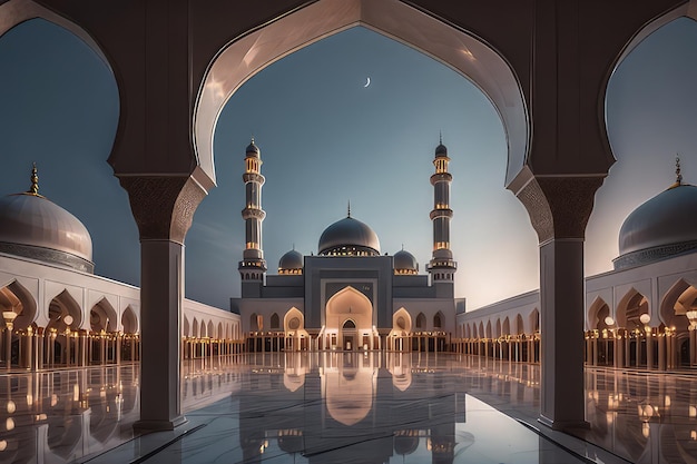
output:
[[348, 216], [324, 229], [317, 249], [325, 256], [377, 256], [380, 240], [370, 226]]

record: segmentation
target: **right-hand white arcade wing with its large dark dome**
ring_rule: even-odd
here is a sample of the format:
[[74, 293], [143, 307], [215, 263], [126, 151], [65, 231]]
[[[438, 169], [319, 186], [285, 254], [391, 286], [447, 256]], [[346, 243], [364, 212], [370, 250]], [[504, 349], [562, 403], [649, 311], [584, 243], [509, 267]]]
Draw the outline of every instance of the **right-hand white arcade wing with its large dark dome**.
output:
[[[678, 160], [675, 184], [622, 224], [615, 269], [586, 278], [586, 365], [697, 365], [697, 219], [689, 213], [695, 208], [697, 187], [683, 184]], [[539, 362], [540, 294], [459, 314], [457, 333], [461, 353]]]

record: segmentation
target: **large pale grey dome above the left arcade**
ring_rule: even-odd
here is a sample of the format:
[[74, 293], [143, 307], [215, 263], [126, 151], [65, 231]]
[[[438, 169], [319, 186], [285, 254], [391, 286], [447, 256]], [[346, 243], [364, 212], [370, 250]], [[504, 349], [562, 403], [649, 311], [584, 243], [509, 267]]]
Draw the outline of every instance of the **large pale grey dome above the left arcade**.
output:
[[0, 198], [0, 251], [94, 270], [92, 240], [85, 225], [31, 192]]

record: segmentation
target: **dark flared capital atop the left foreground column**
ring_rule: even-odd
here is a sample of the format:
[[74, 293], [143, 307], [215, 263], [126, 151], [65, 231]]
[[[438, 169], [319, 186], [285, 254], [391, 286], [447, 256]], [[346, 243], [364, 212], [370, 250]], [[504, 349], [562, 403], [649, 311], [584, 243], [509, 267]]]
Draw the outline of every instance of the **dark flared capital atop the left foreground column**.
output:
[[140, 240], [184, 244], [194, 213], [208, 194], [193, 176], [121, 176]]

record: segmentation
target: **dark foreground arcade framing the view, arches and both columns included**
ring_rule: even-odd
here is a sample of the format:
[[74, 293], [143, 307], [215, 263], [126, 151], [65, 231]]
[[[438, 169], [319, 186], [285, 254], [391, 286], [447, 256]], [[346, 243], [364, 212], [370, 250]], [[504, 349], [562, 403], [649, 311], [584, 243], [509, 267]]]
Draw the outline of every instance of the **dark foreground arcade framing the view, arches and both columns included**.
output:
[[[37, 12], [41, 8], [45, 11]], [[310, 16], [304, 32], [300, 28], [285, 36], [264, 34], [281, 23], [278, 18], [320, 10], [327, 18]], [[415, 16], [401, 17], [405, 11]], [[220, 87], [220, 95], [213, 95], [213, 82], [222, 77], [208, 71], [220, 50], [258, 31], [254, 37], [268, 42], [258, 41], [248, 51], [271, 46], [278, 58], [301, 46], [303, 37], [313, 37], [307, 32], [313, 23], [334, 17], [344, 18], [337, 28], [363, 23], [457, 69], [463, 62], [455, 58], [460, 55], [475, 60], [498, 55], [499, 65], [507, 63], [516, 76], [508, 82], [517, 80], [520, 101], [497, 97], [510, 95], [505, 81], [482, 83], [472, 76], [474, 69], [469, 76], [494, 101], [502, 119], [509, 108], [514, 115], [524, 108], [524, 136], [519, 137], [518, 117], [504, 122], [510, 147], [505, 185], [526, 206], [540, 241], [541, 419], [565, 428], [583, 424], [583, 235], [595, 191], [613, 162], [603, 125], [607, 81], [646, 24], [694, 11], [695, 2], [687, 0], [413, 0], [409, 6], [397, 0], [43, 0], [41, 7], [10, 0], [0, 3], [0, 33], [31, 14], [56, 14], [68, 29], [84, 30], [99, 45], [117, 78], [121, 112], [109, 162], [129, 194], [141, 240], [139, 425], [147, 428], [171, 428], [184, 421], [178, 378], [183, 243], [196, 207], [215, 185], [213, 154], [204, 147], [210, 141], [215, 108], [234, 90]], [[351, 17], [354, 23], [346, 20]], [[434, 21], [434, 28], [414, 28], [413, 36], [400, 32], [397, 20], [410, 24], [416, 17]], [[457, 47], [454, 41], [441, 42], [451, 29], [470, 31], [479, 40], [463, 39]], [[318, 27], [315, 40], [332, 30]], [[300, 38], [296, 32], [302, 32]], [[480, 55], [477, 47], [484, 45], [497, 53]], [[441, 46], [450, 55], [438, 51]], [[237, 57], [248, 62], [254, 58]], [[206, 98], [214, 115], [207, 121], [202, 116]]]

